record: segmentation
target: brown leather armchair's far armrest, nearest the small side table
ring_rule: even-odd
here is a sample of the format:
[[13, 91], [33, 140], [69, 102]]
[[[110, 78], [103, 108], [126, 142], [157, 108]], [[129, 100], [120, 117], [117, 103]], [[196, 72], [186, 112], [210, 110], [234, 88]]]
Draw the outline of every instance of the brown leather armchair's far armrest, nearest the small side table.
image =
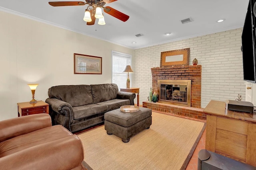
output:
[[52, 126], [52, 120], [46, 113], [0, 121], [0, 143], [49, 126]]

